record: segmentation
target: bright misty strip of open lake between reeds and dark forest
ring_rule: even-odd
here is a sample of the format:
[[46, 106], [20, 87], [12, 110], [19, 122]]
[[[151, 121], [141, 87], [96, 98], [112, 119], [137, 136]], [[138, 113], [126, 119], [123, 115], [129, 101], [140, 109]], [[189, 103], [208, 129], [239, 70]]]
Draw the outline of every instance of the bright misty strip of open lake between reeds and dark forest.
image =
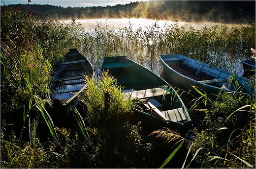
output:
[[[61, 21], [64, 23], [70, 23], [72, 21]], [[81, 26], [87, 31], [87, 30], [94, 30], [97, 24], [101, 24], [102, 28], [108, 28], [108, 29], [116, 29], [118, 30], [121, 27], [128, 27], [129, 24], [132, 26], [133, 30], [136, 30], [138, 28], [145, 29], [145, 27], [157, 25], [160, 28], [163, 28], [164, 26], [173, 26], [175, 21], [171, 20], [151, 20], [151, 19], [144, 19], [144, 18], [123, 18], [123, 19], [85, 19], [85, 20], [75, 20], [76, 23], [82, 24]], [[210, 27], [212, 25], [218, 24], [218, 25], [224, 25], [224, 23], [211, 23], [211, 22], [198, 22], [198, 23], [186, 23], [186, 22], [178, 22], [178, 26], [187, 25], [187, 27], [192, 26], [193, 28], [199, 30], [203, 26]], [[225, 24], [228, 28], [231, 28], [232, 26], [240, 26], [240, 24]], [[242, 24], [245, 26], [245, 24]]]

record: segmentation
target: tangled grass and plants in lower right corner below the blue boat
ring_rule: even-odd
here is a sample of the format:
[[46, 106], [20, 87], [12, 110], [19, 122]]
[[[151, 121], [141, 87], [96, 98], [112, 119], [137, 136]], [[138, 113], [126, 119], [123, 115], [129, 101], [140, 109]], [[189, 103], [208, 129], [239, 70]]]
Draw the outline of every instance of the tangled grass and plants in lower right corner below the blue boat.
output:
[[[202, 97], [194, 103], [195, 106], [205, 103], [206, 108], [197, 109], [205, 111], [205, 118], [201, 126], [193, 130], [191, 149], [196, 154], [195, 163], [201, 167], [255, 168], [255, 81], [251, 83], [250, 96], [220, 92], [216, 100], [211, 100], [200, 93]], [[203, 150], [199, 152], [200, 147]]]

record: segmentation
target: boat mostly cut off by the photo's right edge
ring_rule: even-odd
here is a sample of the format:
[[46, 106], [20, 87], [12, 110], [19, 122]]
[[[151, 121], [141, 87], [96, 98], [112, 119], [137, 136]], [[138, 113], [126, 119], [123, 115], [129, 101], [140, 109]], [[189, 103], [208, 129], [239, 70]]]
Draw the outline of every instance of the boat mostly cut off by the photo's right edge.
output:
[[244, 69], [243, 77], [249, 78], [255, 75], [255, 62], [256, 59], [254, 57], [251, 57], [250, 59], [241, 62]]

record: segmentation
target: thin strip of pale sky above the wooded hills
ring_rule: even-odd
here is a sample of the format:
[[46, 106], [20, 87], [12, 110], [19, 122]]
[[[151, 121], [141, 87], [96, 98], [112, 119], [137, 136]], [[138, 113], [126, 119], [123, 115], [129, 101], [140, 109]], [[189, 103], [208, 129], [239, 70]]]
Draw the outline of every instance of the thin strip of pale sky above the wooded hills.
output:
[[[28, 0], [0, 0], [1, 5], [28, 3]], [[30, 4], [50, 4], [63, 7], [87, 7], [87, 6], [114, 6], [117, 4], [129, 4], [130, 2], [142, 0], [31, 0]], [[146, 0], [143, 0], [146, 1]]]

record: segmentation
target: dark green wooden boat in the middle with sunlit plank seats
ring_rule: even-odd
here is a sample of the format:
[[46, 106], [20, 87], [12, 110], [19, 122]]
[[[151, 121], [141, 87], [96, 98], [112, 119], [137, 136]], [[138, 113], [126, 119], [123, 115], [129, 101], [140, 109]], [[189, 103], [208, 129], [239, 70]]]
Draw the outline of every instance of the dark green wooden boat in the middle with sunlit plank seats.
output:
[[[186, 134], [192, 127], [187, 108], [175, 90], [160, 76], [126, 56], [104, 58], [100, 72], [117, 78], [117, 85], [131, 99], [141, 100], [132, 109], [142, 125], [159, 129], [163, 126]], [[164, 94], [164, 95], [163, 95]]]

